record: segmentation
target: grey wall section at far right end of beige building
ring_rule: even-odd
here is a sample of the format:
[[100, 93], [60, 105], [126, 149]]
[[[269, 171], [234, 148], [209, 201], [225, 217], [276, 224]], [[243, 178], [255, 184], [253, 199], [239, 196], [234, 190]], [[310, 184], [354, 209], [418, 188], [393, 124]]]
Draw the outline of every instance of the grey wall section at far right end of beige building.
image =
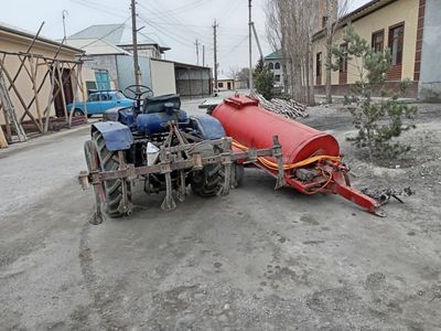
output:
[[419, 98], [441, 102], [441, 0], [426, 0]]

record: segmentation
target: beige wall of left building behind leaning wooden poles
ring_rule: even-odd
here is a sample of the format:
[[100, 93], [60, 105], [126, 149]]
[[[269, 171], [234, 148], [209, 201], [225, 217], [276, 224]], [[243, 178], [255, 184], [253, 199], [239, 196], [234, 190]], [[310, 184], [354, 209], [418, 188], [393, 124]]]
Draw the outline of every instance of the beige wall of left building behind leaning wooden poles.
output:
[[[23, 52], [25, 53], [28, 51], [29, 44], [31, 43], [31, 40], [28, 38], [23, 38], [20, 35], [15, 35], [9, 32], [0, 31], [0, 50], [6, 51], [6, 52]], [[47, 57], [53, 57], [57, 51], [56, 45], [47, 44], [44, 42], [36, 42], [34, 47], [32, 49], [32, 52], [34, 54], [40, 54], [43, 56]], [[74, 61], [75, 60], [75, 53], [74, 51], [64, 49], [61, 51], [58, 54], [60, 60], [69, 60]], [[42, 63], [42, 62], [40, 62]], [[6, 62], [4, 62], [6, 68], [8, 73], [13, 77], [19, 70], [20, 66], [20, 58], [18, 56], [13, 55], [7, 55]], [[30, 66], [26, 62], [26, 67], [30, 71]], [[36, 84], [40, 86], [40, 83], [43, 81], [44, 74], [46, 73], [47, 68], [45, 65], [39, 65], [37, 72], [36, 72]], [[4, 77], [7, 81], [7, 78]], [[8, 82], [7, 82], [7, 85]], [[29, 104], [31, 99], [34, 97], [34, 90], [33, 86], [31, 83], [31, 79], [29, 78], [24, 68], [22, 68], [21, 74], [18, 76], [15, 85], [18, 89], [20, 90], [21, 96], [23, 97], [25, 104]], [[41, 108], [45, 108], [49, 102], [51, 93], [51, 79], [50, 76], [46, 78], [40, 94], [39, 94], [39, 104]], [[24, 114], [24, 108], [21, 106], [19, 98], [17, 97], [15, 93], [11, 89], [10, 92], [10, 97], [12, 100], [12, 104], [15, 108], [15, 113], [18, 117], [20, 118], [22, 114]], [[33, 106], [30, 108], [31, 113], [35, 118], [37, 118], [37, 110], [35, 103], [33, 103]], [[42, 109], [43, 111], [44, 109]], [[4, 117], [2, 115], [3, 111], [0, 111], [0, 124], [4, 124]], [[50, 110], [50, 116], [55, 116], [55, 109], [53, 106], [51, 106]], [[29, 118], [25, 117], [24, 120], [28, 120]]]

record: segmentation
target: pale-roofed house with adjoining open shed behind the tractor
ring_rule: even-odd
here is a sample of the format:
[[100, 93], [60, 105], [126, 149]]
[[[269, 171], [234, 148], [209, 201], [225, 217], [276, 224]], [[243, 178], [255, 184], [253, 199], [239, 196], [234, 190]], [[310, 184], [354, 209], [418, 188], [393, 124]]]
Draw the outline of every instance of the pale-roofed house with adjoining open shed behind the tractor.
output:
[[[69, 45], [85, 51], [84, 67], [89, 89], [123, 90], [135, 84], [131, 29], [126, 24], [92, 25], [71, 35]], [[205, 96], [212, 92], [208, 67], [161, 60], [170, 50], [138, 32], [138, 65], [141, 84], [154, 95], [179, 93], [184, 97]]]

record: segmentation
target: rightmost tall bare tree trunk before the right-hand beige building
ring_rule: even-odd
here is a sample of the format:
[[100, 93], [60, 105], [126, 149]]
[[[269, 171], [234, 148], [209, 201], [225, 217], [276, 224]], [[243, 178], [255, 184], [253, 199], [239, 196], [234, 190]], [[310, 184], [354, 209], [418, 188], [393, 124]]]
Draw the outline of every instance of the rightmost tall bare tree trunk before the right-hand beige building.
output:
[[326, 103], [332, 104], [331, 79], [332, 79], [332, 46], [335, 31], [340, 26], [342, 18], [347, 13], [348, 0], [326, 1], [326, 57], [325, 57], [325, 94]]

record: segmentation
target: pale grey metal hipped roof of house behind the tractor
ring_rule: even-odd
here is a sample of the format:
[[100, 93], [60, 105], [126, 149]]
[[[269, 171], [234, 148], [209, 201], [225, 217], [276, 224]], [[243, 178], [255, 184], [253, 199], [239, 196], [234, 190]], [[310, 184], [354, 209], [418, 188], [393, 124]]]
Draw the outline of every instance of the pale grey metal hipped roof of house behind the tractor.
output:
[[[139, 45], [155, 45], [160, 49], [160, 52], [169, 51], [170, 47], [166, 45], [160, 45], [159, 42], [149, 38], [146, 33], [138, 32], [138, 44]], [[105, 40], [106, 42], [117, 45], [132, 45], [132, 32], [129, 26], [125, 23], [121, 24], [97, 24], [90, 25], [68, 38], [69, 40], [75, 39], [98, 39]]]

